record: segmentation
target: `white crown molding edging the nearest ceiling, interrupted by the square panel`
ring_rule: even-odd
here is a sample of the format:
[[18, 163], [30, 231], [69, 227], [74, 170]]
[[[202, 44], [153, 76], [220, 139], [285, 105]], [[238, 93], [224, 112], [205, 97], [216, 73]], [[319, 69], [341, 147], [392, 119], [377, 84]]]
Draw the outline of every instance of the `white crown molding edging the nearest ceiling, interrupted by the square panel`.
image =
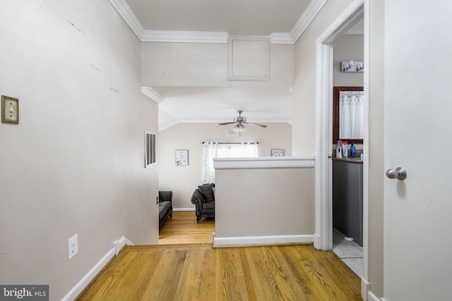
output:
[[[193, 32], [171, 30], [145, 30], [126, 0], [109, 0], [141, 42], [220, 43], [226, 44], [227, 32]], [[295, 44], [309, 23], [328, 0], [311, 0], [307, 9], [290, 32], [274, 32], [270, 44]]]

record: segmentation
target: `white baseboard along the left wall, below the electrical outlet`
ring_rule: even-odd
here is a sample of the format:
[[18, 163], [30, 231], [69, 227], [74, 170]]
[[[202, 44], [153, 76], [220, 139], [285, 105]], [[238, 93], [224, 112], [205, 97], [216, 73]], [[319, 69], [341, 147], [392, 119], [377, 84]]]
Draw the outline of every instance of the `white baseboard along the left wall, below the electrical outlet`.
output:
[[97, 274], [102, 271], [109, 261], [119, 254], [121, 249], [126, 245], [133, 245], [133, 243], [124, 236], [119, 238], [119, 240], [115, 240], [113, 242], [112, 249], [110, 249], [107, 254], [105, 254], [104, 257], [102, 257], [102, 259], [100, 259], [100, 261], [93, 266], [93, 269], [90, 269], [90, 271], [88, 271], [88, 273], [81, 278], [81, 281], [78, 281], [78, 283], [61, 300], [71, 301], [76, 299], [76, 297], [80, 295], [80, 293], [90, 284], [90, 282], [93, 281], [95, 276], [97, 276]]

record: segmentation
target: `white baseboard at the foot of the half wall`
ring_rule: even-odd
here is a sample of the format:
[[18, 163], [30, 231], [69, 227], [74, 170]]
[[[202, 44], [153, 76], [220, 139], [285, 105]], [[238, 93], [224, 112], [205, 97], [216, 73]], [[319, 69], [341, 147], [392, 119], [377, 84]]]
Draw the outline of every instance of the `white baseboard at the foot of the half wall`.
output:
[[256, 245], [294, 245], [314, 242], [314, 235], [246, 236], [239, 238], [213, 237], [213, 247], [247, 247]]

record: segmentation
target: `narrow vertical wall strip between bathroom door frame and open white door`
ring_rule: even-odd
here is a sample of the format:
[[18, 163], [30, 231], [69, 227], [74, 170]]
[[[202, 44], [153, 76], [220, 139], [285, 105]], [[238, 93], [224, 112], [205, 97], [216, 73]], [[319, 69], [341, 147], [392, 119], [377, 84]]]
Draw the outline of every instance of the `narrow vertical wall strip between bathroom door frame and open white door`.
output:
[[[383, 297], [383, 183], [384, 148], [384, 3], [370, 1], [369, 37], [369, 282], [371, 291]], [[365, 68], [365, 67], [364, 67]], [[365, 169], [364, 169], [365, 172]], [[366, 191], [364, 191], [366, 193]], [[364, 212], [364, 214], [366, 214]]]

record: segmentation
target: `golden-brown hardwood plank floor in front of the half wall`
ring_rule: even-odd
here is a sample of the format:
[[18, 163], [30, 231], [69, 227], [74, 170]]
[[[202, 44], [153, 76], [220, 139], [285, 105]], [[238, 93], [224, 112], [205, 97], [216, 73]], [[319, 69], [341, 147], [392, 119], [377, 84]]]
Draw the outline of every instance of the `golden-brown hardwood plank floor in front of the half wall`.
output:
[[125, 247], [77, 300], [361, 300], [360, 290], [358, 276], [333, 252], [312, 245], [190, 243]]

